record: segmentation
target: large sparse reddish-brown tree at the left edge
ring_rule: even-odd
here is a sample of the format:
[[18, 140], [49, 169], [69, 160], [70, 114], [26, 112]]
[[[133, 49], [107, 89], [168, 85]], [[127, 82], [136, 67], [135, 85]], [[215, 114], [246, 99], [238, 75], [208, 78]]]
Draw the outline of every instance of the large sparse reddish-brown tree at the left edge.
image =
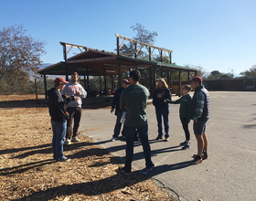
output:
[[[22, 25], [0, 30], [0, 90], [3, 93], [27, 90], [29, 76], [37, 72], [46, 42], [26, 35]], [[10, 87], [11, 86], [11, 87]]]

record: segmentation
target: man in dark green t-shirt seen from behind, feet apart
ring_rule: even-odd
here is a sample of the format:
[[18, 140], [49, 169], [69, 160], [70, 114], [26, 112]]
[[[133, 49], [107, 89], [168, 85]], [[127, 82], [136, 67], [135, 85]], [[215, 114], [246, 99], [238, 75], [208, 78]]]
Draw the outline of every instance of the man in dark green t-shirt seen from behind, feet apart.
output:
[[144, 149], [145, 168], [142, 171], [144, 175], [150, 172], [155, 165], [151, 161], [151, 149], [148, 142], [148, 125], [145, 112], [146, 101], [148, 100], [148, 90], [141, 84], [139, 80], [141, 73], [134, 69], [130, 72], [130, 86], [123, 90], [120, 98], [121, 110], [126, 109], [125, 122], [123, 123], [123, 131], [126, 141], [126, 157], [125, 165], [119, 168], [125, 175], [131, 175], [133, 161], [133, 143], [135, 130], [139, 132], [141, 143]]

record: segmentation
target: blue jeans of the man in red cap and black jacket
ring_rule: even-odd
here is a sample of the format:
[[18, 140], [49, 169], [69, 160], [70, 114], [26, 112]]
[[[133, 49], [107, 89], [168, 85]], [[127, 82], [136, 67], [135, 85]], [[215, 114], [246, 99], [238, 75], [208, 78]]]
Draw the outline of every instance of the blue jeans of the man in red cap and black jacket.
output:
[[63, 154], [63, 143], [67, 131], [67, 122], [55, 122], [51, 121], [52, 125], [52, 149], [53, 158], [56, 161], [61, 160], [64, 157]]

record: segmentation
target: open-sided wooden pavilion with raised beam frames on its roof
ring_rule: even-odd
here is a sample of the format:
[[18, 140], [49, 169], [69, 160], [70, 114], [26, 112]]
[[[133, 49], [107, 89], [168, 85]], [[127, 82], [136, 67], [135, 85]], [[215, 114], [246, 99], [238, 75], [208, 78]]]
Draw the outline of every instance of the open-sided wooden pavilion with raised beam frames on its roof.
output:
[[[172, 50], [165, 48], [158, 48], [149, 44], [142, 43], [140, 41], [133, 40], [128, 37], [123, 37], [116, 34], [117, 41], [117, 53], [108, 52], [104, 50], [88, 48], [83, 46], [78, 46], [74, 44], [69, 44], [65, 42], [60, 42], [63, 46], [63, 57], [64, 61], [53, 64], [48, 68], [41, 69], [38, 71], [39, 74], [43, 75], [45, 83], [45, 94], [47, 99], [47, 75], [66, 75], [66, 79], [69, 79], [69, 75], [76, 71], [80, 76], [84, 76], [84, 86], [85, 90], [90, 90], [89, 77], [90, 76], [103, 76], [104, 78], [104, 94], [107, 94], [107, 76], [112, 77], [113, 86], [113, 76], [118, 75], [118, 87], [121, 86], [122, 82], [122, 72], [132, 69], [149, 69], [150, 73], [150, 93], [152, 94], [155, 90], [156, 81], [156, 69], [161, 69], [161, 77], [163, 77], [164, 70], [167, 72], [167, 84], [172, 86], [172, 71], [177, 70], [179, 74], [179, 90], [177, 95], [181, 95], [181, 71], [186, 71], [189, 81], [190, 72], [194, 72], [197, 75], [197, 69], [191, 69], [186, 67], [177, 66], [172, 64]], [[123, 43], [120, 44], [120, 38], [124, 41], [130, 41], [133, 44], [134, 57], [124, 56], [120, 53], [120, 49], [123, 47]], [[69, 47], [69, 50], [67, 48]], [[142, 47], [148, 50], [148, 59], [137, 58], [137, 54]], [[71, 48], [79, 48], [80, 54], [68, 58], [69, 51]], [[160, 54], [160, 62], [153, 61], [151, 59], [154, 50], [157, 49]], [[168, 54], [170, 63], [164, 63], [163, 56], [165, 53]], [[100, 79], [101, 81], [101, 79]], [[101, 85], [101, 83], [100, 83]]]

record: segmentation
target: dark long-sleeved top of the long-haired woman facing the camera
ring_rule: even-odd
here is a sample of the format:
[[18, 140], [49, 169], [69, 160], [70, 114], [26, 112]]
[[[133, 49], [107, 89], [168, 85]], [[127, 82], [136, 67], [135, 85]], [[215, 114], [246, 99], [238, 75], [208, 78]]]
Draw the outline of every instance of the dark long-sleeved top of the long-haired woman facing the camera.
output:
[[[162, 94], [162, 98], [158, 98], [157, 94]], [[155, 106], [155, 108], [168, 108], [169, 104], [165, 102], [165, 100], [172, 100], [171, 91], [169, 89], [161, 90], [157, 88], [153, 94], [153, 105]]]

